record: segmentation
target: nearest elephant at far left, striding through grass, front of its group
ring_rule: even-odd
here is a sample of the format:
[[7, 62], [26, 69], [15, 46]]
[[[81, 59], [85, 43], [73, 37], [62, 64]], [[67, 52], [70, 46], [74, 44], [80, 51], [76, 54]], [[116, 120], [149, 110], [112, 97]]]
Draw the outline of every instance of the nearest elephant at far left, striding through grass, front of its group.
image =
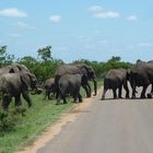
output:
[[21, 94], [27, 102], [28, 107], [32, 106], [32, 99], [28, 89], [35, 89], [37, 79], [30, 72], [4, 73], [0, 76], [0, 92], [2, 94], [2, 107], [8, 110], [12, 97], [15, 99], [15, 106], [22, 104]]

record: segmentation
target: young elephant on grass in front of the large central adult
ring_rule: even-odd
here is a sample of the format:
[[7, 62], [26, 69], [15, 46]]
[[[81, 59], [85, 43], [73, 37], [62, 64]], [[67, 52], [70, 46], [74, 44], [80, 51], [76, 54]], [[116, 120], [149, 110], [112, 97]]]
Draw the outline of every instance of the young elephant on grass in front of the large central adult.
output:
[[72, 95], [74, 102], [82, 102], [82, 96], [80, 94], [80, 87], [82, 83], [87, 82], [87, 78], [83, 74], [64, 74], [59, 80], [59, 97], [57, 99], [57, 105], [60, 103], [60, 99], [63, 101], [63, 104], [67, 104], [66, 96], [68, 94]]

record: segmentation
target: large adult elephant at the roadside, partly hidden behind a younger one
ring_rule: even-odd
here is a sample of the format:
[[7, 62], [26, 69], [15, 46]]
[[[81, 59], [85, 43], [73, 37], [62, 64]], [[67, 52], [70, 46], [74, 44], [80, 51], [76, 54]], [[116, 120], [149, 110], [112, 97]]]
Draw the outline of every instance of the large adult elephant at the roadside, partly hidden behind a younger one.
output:
[[[80, 64], [62, 64], [57, 69], [56, 74], [55, 74], [55, 87], [56, 87], [56, 93], [57, 93], [56, 97], [58, 97], [58, 95], [59, 95], [59, 79], [64, 74], [86, 75], [86, 78], [89, 80], [92, 80], [94, 82], [94, 95], [96, 95], [97, 82], [96, 82], [96, 75], [95, 75], [94, 70], [85, 63], [80, 63]], [[90, 86], [89, 82], [86, 82], [86, 84], [83, 83], [82, 87], [85, 90], [86, 96], [90, 97], [91, 96], [91, 86]]]

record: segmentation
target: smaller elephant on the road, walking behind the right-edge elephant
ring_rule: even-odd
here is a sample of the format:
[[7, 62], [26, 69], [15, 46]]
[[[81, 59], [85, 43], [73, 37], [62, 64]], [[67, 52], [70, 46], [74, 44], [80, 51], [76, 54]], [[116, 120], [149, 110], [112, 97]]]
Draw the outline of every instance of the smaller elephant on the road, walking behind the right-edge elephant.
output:
[[[129, 70], [126, 69], [111, 69], [109, 70], [104, 78], [104, 91], [102, 94], [102, 99], [105, 98], [107, 90], [113, 90], [114, 98], [122, 98], [121, 91], [122, 86], [126, 90], [126, 97], [129, 98]], [[117, 95], [118, 89], [118, 95]]]

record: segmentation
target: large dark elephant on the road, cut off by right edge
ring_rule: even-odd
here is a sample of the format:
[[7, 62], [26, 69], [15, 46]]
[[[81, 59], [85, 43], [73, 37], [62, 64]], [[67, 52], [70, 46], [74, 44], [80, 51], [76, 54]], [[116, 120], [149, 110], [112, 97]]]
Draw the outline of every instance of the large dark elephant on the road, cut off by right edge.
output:
[[[137, 62], [130, 71], [130, 82], [132, 87], [132, 98], [136, 97], [136, 87], [142, 86], [140, 97], [145, 98], [145, 92], [150, 84], [153, 85], [153, 62]], [[151, 90], [153, 93], [153, 89]]]

